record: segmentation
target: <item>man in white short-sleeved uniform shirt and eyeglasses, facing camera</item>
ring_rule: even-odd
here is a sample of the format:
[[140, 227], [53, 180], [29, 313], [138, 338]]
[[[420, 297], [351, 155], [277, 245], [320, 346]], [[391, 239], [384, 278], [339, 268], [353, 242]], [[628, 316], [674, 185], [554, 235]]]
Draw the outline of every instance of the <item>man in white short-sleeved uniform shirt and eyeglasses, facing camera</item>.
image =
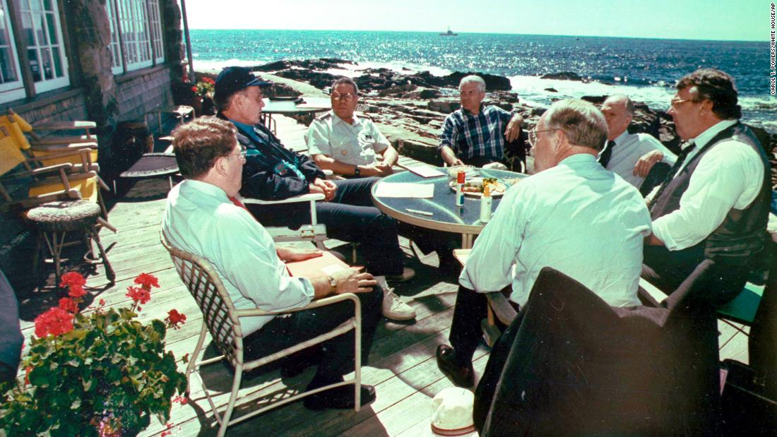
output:
[[[308, 152], [320, 168], [338, 175], [388, 176], [399, 155], [375, 123], [354, 113], [359, 88], [350, 78], [332, 84], [332, 111], [319, 116], [308, 128]], [[377, 155], [382, 156], [378, 162]]]

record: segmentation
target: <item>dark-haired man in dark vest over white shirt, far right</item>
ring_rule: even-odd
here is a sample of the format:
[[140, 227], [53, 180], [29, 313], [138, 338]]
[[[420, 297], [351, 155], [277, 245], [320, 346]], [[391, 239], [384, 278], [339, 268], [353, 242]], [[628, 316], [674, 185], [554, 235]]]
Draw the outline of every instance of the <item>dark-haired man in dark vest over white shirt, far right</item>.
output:
[[669, 114], [688, 144], [648, 196], [653, 234], [646, 238], [643, 278], [671, 292], [699, 262], [713, 259], [718, 272], [709, 302], [721, 304], [740, 293], [763, 247], [768, 160], [739, 121], [733, 78], [702, 68], [676, 88]]

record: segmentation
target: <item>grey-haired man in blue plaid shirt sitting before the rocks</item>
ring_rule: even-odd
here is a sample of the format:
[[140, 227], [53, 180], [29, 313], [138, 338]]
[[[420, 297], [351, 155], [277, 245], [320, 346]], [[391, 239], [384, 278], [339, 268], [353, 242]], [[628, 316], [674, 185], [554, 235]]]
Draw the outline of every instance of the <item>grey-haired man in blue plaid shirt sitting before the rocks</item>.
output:
[[448, 115], [442, 126], [437, 150], [446, 164], [476, 165], [501, 161], [504, 143], [521, 135], [521, 114], [511, 114], [497, 106], [483, 107], [486, 82], [476, 75], [465, 76], [458, 84], [462, 108]]

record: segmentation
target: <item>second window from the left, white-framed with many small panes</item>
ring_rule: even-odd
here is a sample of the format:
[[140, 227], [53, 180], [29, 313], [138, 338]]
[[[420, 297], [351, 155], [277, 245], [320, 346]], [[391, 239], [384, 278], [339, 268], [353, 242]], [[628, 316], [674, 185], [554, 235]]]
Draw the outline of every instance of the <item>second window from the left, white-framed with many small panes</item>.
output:
[[68, 60], [62, 46], [59, 11], [55, 0], [21, 0], [24, 43], [35, 82], [35, 92], [69, 85]]

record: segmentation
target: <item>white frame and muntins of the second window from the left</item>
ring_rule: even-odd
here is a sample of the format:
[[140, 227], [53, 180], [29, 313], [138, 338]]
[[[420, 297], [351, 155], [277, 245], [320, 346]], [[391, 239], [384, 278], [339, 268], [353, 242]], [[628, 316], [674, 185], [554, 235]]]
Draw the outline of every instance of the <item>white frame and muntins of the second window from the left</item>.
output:
[[[30, 6], [30, 9], [23, 9], [25, 6], [24, 3], [27, 3], [28, 5], [37, 4], [37, 5], [40, 5], [41, 8], [40, 10], [33, 10], [32, 9], [33, 6]], [[52, 9], [51, 11], [46, 11], [43, 9], [43, 0], [29, 0], [28, 2], [20, 2], [19, 4], [19, 14], [22, 16], [22, 19], [21, 19], [22, 23], [24, 23], [25, 19], [29, 18], [33, 25], [33, 37], [35, 39], [34, 41], [35, 45], [32, 47], [26, 46], [26, 50], [37, 50], [39, 54], [38, 62], [40, 62], [39, 68], [41, 68], [41, 71], [40, 71], [40, 81], [34, 82], [36, 93], [47, 92], [53, 89], [63, 88], [65, 86], [70, 85], [70, 78], [68, 74], [68, 55], [67, 53], [65, 53], [65, 50], [64, 50], [64, 39], [62, 38], [62, 23], [59, 20], [59, 5], [57, 5], [56, 0], [49, 0], [48, 3], [51, 5], [51, 9]], [[27, 14], [30, 14], [30, 15], [28, 16]], [[54, 17], [54, 27], [55, 27], [54, 32], [56, 33], [55, 36], [57, 36], [56, 44], [51, 44], [51, 35], [49, 35], [49, 29], [47, 26], [44, 26], [42, 29], [35, 28], [37, 23], [34, 20], [34, 16], [37, 14], [42, 14], [43, 16], [46, 16], [46, 14], [51, 14]], [[40, 37], [40, 34], [38, 34], [37, 31], [43, 32], [44, 35], [49, 36], [48, 40], [50, 41], [50, 43], [42, 46], [38, 45], [40, 44], [40, 41], [38, 40]], [[19, 32], [26, 33], [26, 28], [22, 26], [22, 29], [19, 29]], [[25, 44], [27, 43], [26, 40], [24, 42]], [[47, 79], [45, 78], [44, 71], [42, 70], [44, 66], [43, 66], [43, 59], [42, 57], [40, 57], [40, 54], [42, 54], [45, 48], [51, 48], [51, 47], [59, 48], [60, 57], [61, 57], [60, 68], [62, 70], [62, 76], [60, 78]], [[51, 62], [54, 63], [53, 58], [51, 59]], [[30, 68], [32, 68], [32, 65], [30, 65]]]

